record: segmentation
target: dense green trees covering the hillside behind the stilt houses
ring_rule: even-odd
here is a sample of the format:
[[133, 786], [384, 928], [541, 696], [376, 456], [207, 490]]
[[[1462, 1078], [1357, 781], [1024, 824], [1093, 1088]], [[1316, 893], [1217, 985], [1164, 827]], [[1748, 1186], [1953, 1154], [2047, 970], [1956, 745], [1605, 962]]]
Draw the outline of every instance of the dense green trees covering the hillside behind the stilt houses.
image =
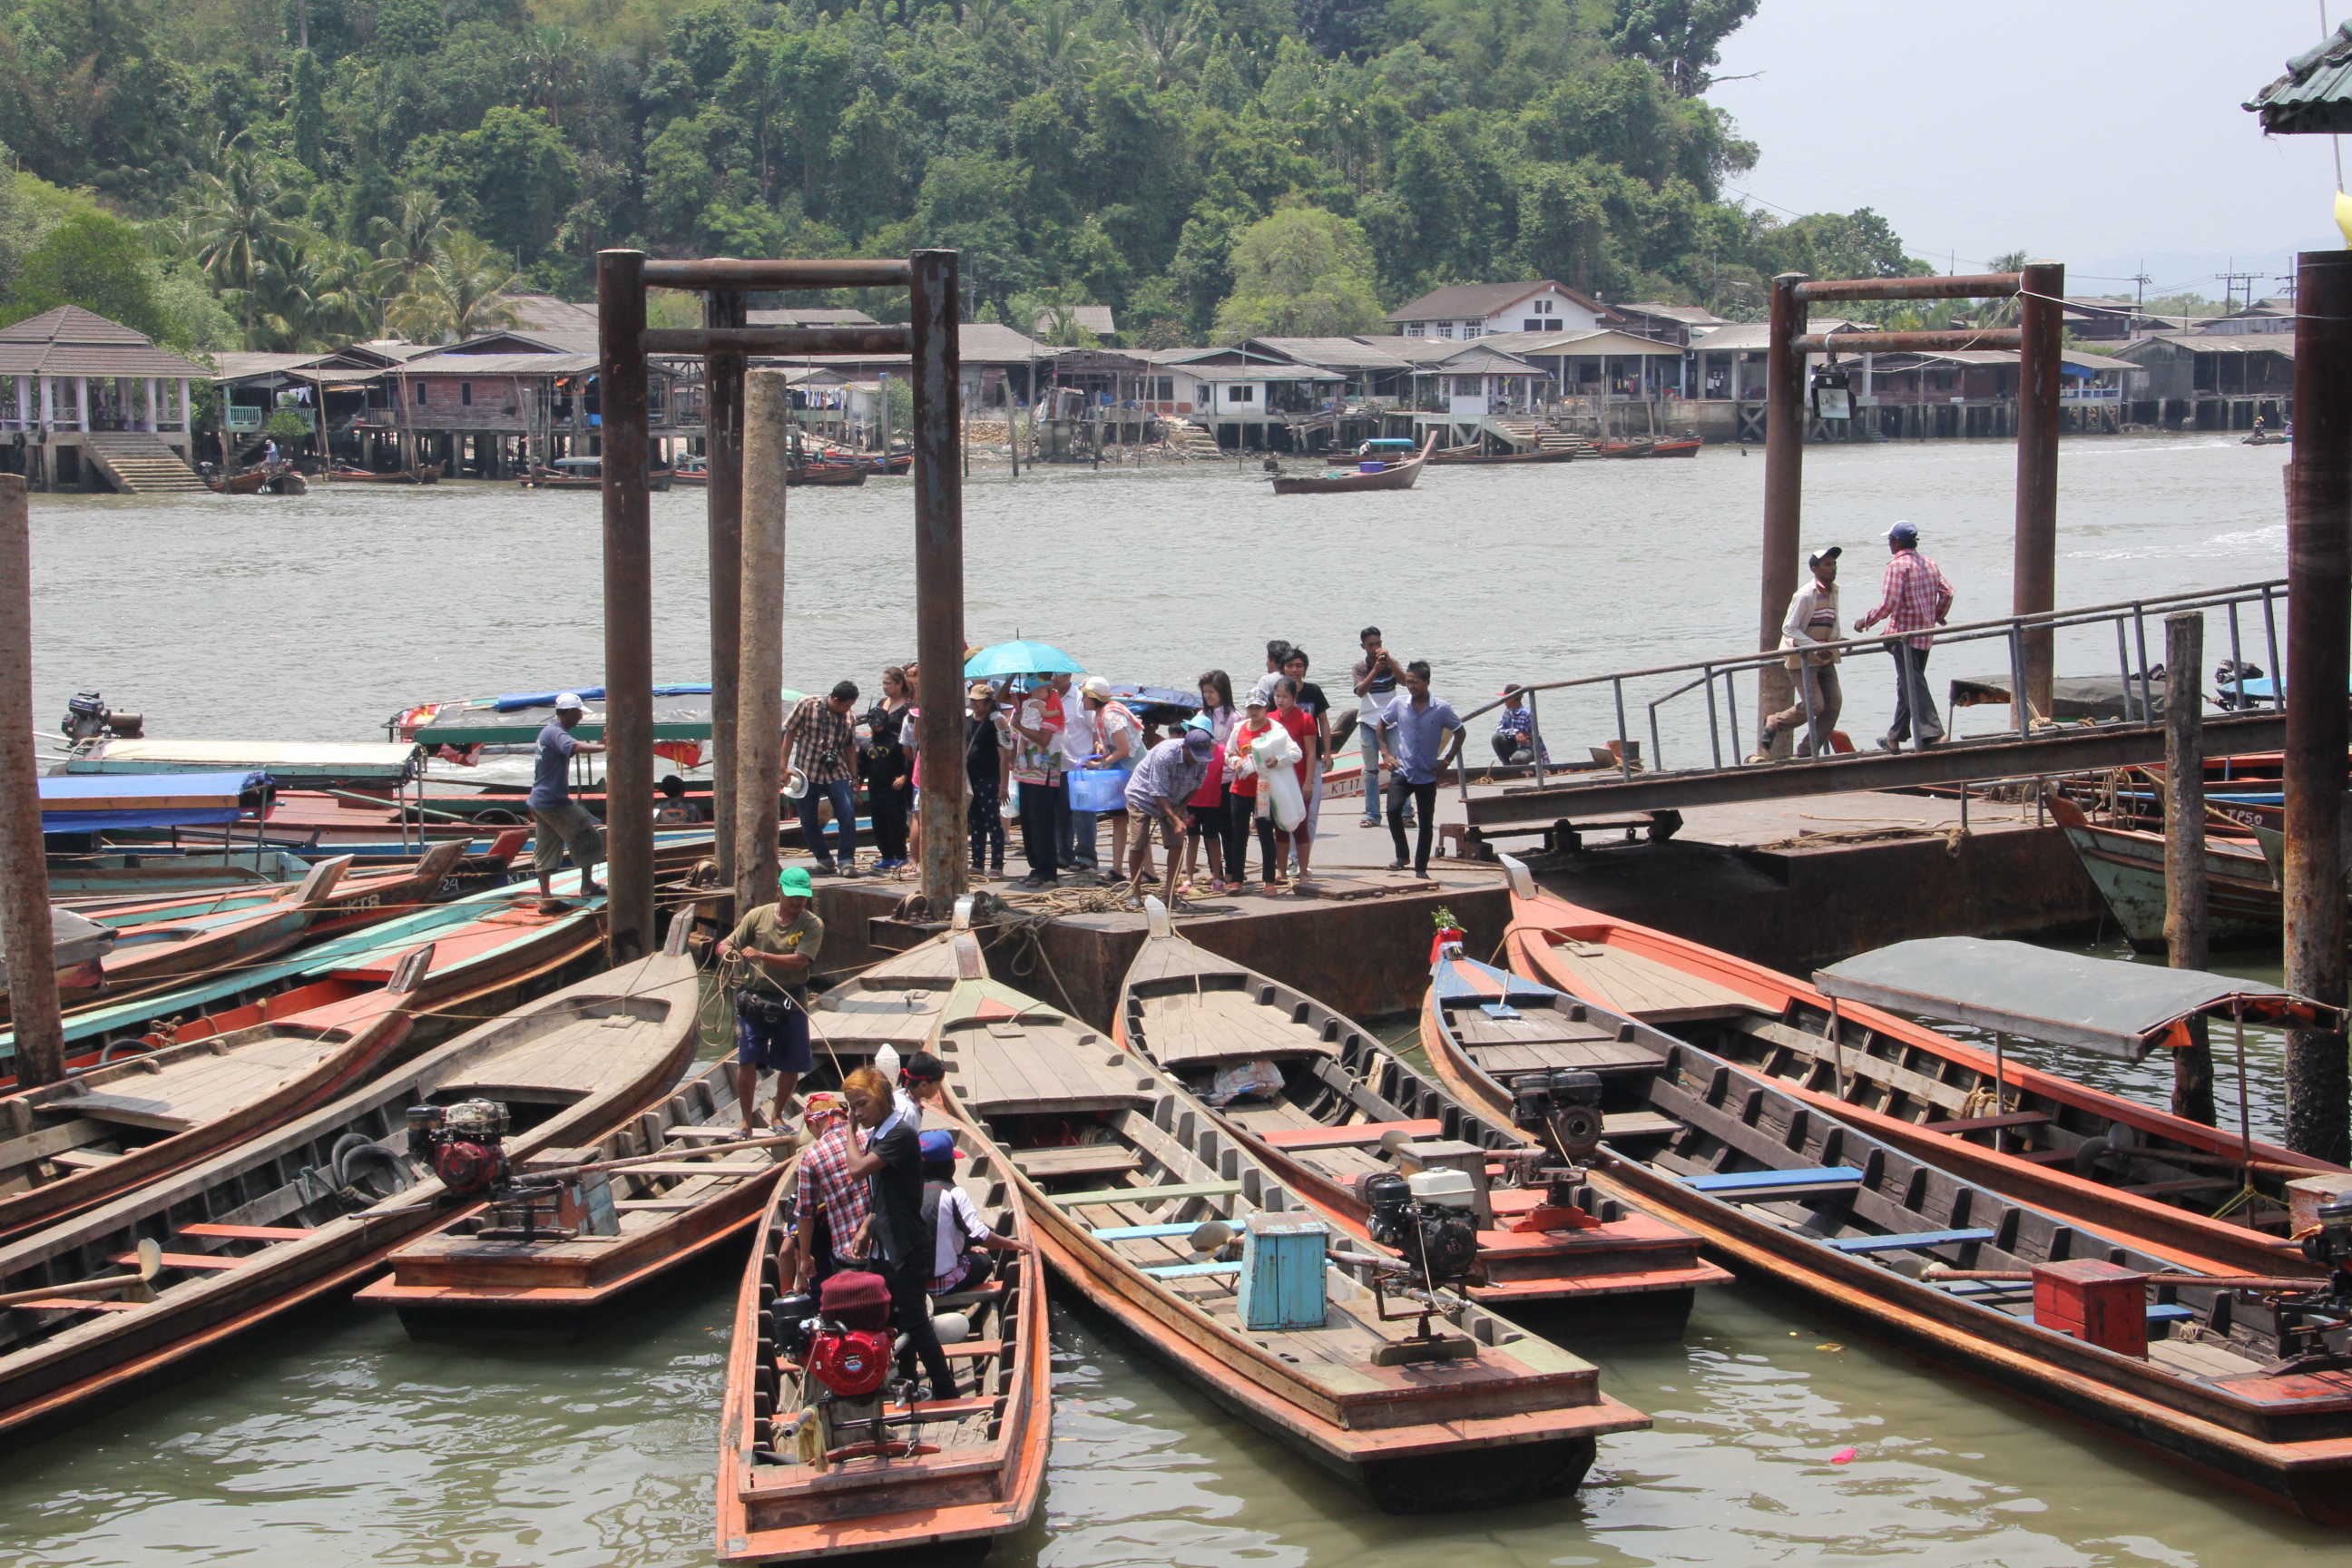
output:
[[[1755, 148], [1703, 92], [1755, 5], [0, 0], [0, 139], [249, 346], [459, 329], [492, 273], [579, 296], [604, 244], [953, 244], [976, 313], [1162, 341], [1228, 301], [1362, 322], [1557, 277], [1752, 315], [1780, 268], [1919, 270], [1870, 212], [1726, 200]], [[1270, 294], [1277, 242], [1336, 294]]]

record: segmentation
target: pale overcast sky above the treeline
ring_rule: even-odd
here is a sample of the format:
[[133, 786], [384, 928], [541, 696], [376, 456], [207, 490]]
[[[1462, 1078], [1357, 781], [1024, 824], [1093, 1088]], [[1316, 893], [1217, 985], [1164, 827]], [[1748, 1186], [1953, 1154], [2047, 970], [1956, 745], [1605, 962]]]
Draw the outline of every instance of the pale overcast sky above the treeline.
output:
[[1764, 0], [1708, 96], [1762, 148], [1733, 193], [1875, 207], [1938, 268], [2027, 249], [2070, 294], [2131, 294], [2145, 256], [2152, 294], [2220, 299], [2234, 256], [2274, 294], [2343, 244], [2333, 139], [2265, 139], [2239, 103], [2319, 38], [2321, 0]]

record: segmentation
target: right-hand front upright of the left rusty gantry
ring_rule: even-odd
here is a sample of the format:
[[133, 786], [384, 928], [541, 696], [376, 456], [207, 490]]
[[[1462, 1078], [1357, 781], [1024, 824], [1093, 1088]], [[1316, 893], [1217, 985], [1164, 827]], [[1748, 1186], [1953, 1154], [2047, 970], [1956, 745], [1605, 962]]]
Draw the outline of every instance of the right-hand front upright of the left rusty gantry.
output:
[[922, 896], [946, 919], [964, 891], [964, 475], [957, 463], [955, 252], [915, 252], [915, 698], [922, 705]]

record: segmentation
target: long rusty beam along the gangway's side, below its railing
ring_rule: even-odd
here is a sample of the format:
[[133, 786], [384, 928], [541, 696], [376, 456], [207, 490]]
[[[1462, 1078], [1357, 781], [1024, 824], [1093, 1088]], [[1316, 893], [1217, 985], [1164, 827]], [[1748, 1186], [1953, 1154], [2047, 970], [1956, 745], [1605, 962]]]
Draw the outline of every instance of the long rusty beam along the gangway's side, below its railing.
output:
[[[2300, 437], [2303, 433], [2296, 430]], [[2343, 686], [2343, 682], [2338, 682]], [[2340, 717], [2338, 717], [2340, 722]], [[2206, 752], [2267, 752], [2286, 741], [2286, 719], [2277, 712], [2227, 715], [2206, 719]], [[2336, 748], [2336, 788], [2343, 790], [2343, 748]], [[2131, 729], [2060, 729], [2034, 741], [1947, 741], [1931, 752], [1853, 752], [1825, 762], [1783, 762], [1776, 766], [1693, 769], [1689, 773], [1604, 773], [1602, 783], [1559, 785], [1550, 790], [1510, 790], [1477, 795], [1465, 802], [1472, 827], [1503, 823], [1550, 823], [1557, 818], [1611, 816], [1618, 811], [1665, 811], [1677, 806], [1724, 806], [1750, 799], [1795, 799], [1806, 795], [1846, 795], [1853, 790], [1905, 790], [1919, 785], [1978, 783], [1987, 778], [2034, 778], [2164, 762], [2164, 731]]]

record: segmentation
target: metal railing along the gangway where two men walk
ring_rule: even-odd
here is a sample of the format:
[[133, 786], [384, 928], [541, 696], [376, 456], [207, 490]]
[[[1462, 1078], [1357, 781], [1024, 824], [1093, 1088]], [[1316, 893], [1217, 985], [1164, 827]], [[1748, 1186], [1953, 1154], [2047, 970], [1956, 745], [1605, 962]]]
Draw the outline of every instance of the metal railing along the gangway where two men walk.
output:
[[[2227, 663], [2230, 682], [2225, 686], [2225, 691], [2227, 691], [2227, 703], [2225, 705], [2232, 708], [2232, 710], [2249, 710], [2249, 708], [2263, 708], [2263, 705], [2277, 710], [2277, 708], [2284, 708], [2284, 689], [2286, 689], [2286, 682], [2279, 675], [2279, 609], [2284, 604], [2286, 604], [2286, 578], [2267, 578], [2267, 581], [2260, 581], [2260, 583], [2239, 583], [2239, 585], [2232, 585], [2232, 588], [2209, 588], [2209, 590], [2199, 590], [2199, 592], [2159, 595], [2159, 597], [2145, 597], [2145, 599], [2117, 599], [2112, 604], [2089, 604], [2089, 607], [2082, 607], [2082, 609], [2058, 609], [2058, 611], [2044, 611], [2044, 614], [2034, 614], [2034, 616], [2004, 616], [1999, 621], [1969, 621], [1969, 623], [1962, 623], [1962, 625], [1938, 625], [1938, 628], [1933, 628], [1933, 632], [1905, 632], [1905, 637], [1933, 635], [1936, 646], [1971, 644], [1971, 642], [1978, 642], [1978, 644], [1983, 644], [1983, 642], [1999, 644], [2006, 651], [2006, 661], [2009, 661], [2011, 724], [2013, 724], [2016, 738], [2025, 741], [2025, 738], [2032, 736], [2030, 705], [2025, 701], [2020, 701], [2020, 693], [2025, 689], [2025, 635], [2027, 632], [2032, 632], [2032, 630], [2049, 630], [2049, 632], [2056, 635], [2056, 632], [2063, 632], [2063, 630], [2084, 630], [2084, 628], [2114, 625], [2114, 668], [2122, 675], [2122, 684], [2124, 684], [2124, 717], [2119, 722], [2122, 724], [2140, 724], [2140, 726], [2145, 726], [2145, 724], [2157, 724], [2157, 710], [2154, 710], [2152, 686], [2161, 679], [2161, 682], [2166, 682], [2166, 689], [2171, 689], [2171, 672], [2164, 670], [2159, 675], [2159, 665], [2150, 665], [2147, 663], [2147, 616], [2169, 616], [2169, 614], [2180, 614], [2180, 611], [2211, 611], [2211, 609], [2227, 611], [2227, 621], [2230, 621], [2230, 663]], [[2246, 691], [2246, 682], [2249, 679], [2260, 679], [2260, 672], [2249, 675], [2249, 668], [2246, 668], [2249, 639], [2256, 632], [2256, 628], [2249, 625], [2249, 618], [2256, 611], [2260, 614], [2260, 625], [2258, 625], [2260, 644], [2258, 646], [2260, 646], [2260, 654], [2267, 656], [2267, 661], [2270, 661], [2265, 665], [2265, 670], [2270, 672], [2270, 679], [2263, 682], [2263, 686], [2258, 691], [2249, 693]], [[1849, 637], [1844, 642], [1813, 642], [1813, 644], [1806, 644], [1802, 649], [1802, 654], [1806, 654], [1806, 656], [1811, 656], [1811, 654], [1839, 654], [1839, 656], [1844, 656], [1844, 654], [1879, 654], [1879, 651], [1886, 651], [1893, 642], [1896, 642], [1896, 637], [1891, 637], [1886, 632], [1872, 632], [1867, 637]], [[2159, 632], [2159, 637], [2157, 637], [2159, 651], [2161, 651], [2161, 642], [2164, 642], [2164, 637]], [[1649, 766], [1651, 769], [1663, 769], [1665, 766], [1665, 757], [1663, 757], [1665, 738], [1663, 738], [1663, 729], [1658, 724], [1658, 710], [1665, 708], [1668, 703], [1675, 703], [1677, 698], [1684, 698], [1684, 696], [1693, 693], [1693, 691], [1705, 691], [1708, 755], [1712, 759], [1710, 766], [1715, 766], [1715, 769], [1743, 766], [1743, 757], [1745, 757], [1748, 748], [1743, 748], [1743, 743], [1740, 743], [1740, 736], [1743, 736], [1743, 731], [1740, 731], [1740, 696], [1738, 696], [1736, 677], [1740, 677], [1740, 675], [1755, 675], [1755, 679], [1762, 682], [1762, 670], [1766, 670], [1766, 668], [1785, 668], [1785, 661], [1790, 656], [1795, 656], [1795, 654], [1799, 654], [1799, 649], [1769, 649], [1769, 651], [1759, 651], [1759, 654], [1731, 654], [1731, 656], [1719, 656], [1719, 658], [1693, 658], [1693, 661], [1672, 663], [1672, 665], [1649, 665], [1644, 670], [1616, 670], [1616, 672], [1609, 672], [1609, 675], [1578, 675], [1578, 677], [1555, 679], [1555, 682], [1519, 682], [1519, 696], [1526, 701], [1526, 708], [1529, 708], [1529, 729], [1541, 738], [1543, 736], [1543, 715], [1541, 715], [1541, 708], [1538, 708], [1541, 693], [1545, 693], [1545, 691], [1578, 691], [1578, 689], [1599, 689], [1599, 686], [1606, 686], [1609, 689], [1609, 705], [1611, 705], [1611, 710], [1616, 715], [1616, 771], [1623, 778], [1630, 780], [1632, 778], [1632, 769], [1635, 769], [1635, 745], [1632, 745], [1635, 736], [1628, 729], [1628, 708], [1625, 708], [1625, 686], [1628, 686], [1628, 682], [1672, 679], [1677, 675], [1679, 677], [1689, 677], [1689, 679], [1679, 682], [1677, 686], [1672, 686], [1670, 691], [1665, 691], [1665, 693], [1661, 693], [1661, 696], [1656, 696], [1656, 698], [1651, 698], [1646, 703], [1646, 715], [1649, 715]], [[1924, 689], [1926, 677], [1922, 675], [1917, 679], [1922, 682], [1922, 689]], [[2192, 682], [2194, 682], [2192, 689], [2199, 693], [2199, 701], [2201, 701], [2201, 693], [2204, 693], [2204, 672], [2201, 670], [2192, 672]], [[1797, 677], [1790, 684], [1795, 686], [1795, 693], [1797, 693], [1795, 703], [1804, 708], [1806, 726], [1811, 726], [1811, 719], [1813, 719], [1813, 682], [1804, 679], [1804, 672], [1799, 670]], [[1722, 696], [1722, 701], [1717, 701], [1717, 696]], [[1463, 712], [1461, 715], [1463, 726], [1468, 729], [1472, 719], [1498, 710], [1503, 705], [1503, 701], [1505, 698], [1496, 698], [1491, 703], [1472, 708], [1470, 712]], [[1637, 701], [1639, 701], [1639, 696], [1637, 696]], [[1755, 710], [1759, 715], [1757, 717], [1757, 729], [1762, 729], [1762, 696], [1757, 693], [1752, 698], [1752, 703], [1755, 703]], [[2042, 715], [2042, 724], [2046, 726], [2049, 722], [2051, 722], [2051, 715]], [[1790, 731], [1790, 733], [1795, 733], [1795, 731]], [[1729, 762], [1726, 762], [1726, 750], [1724, 750], [1726, 741], [1729, 741]], [[1759, 736], [1759, 741], [1762, 741], [1762, 736]], [[1534, 762], [1536, 788], [1543, 788], [1548, 773], [1578, 773], [1578, 771], [1590, 773], [1592, 771], [1592, 769], [1566, 769], [1566, 766], [1559, 766], [1557, 762], [1545, 762], [1541, 743], [1534, 750], [1536, 750], [1536, 762]], [[1458, 780], [1461, 780], [1461, 795], [1463, 795], [1463, 799], [1468, 799], [1470, 797], [1470, 769], [1468, 766], [1458, 769]]]

